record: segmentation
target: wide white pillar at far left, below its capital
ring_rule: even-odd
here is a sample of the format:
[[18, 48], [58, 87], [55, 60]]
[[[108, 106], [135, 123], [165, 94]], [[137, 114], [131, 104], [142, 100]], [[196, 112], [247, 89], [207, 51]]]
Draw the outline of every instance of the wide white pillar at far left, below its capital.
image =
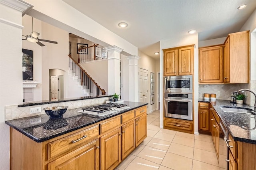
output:
[[[18, 4], [22, 9], [22, 4], [13, 3]], [[4, 123], [5, 106], [22, 103], [21, 16], [21, 11], [0, 3], [0, 167], [2, 170], [10, 169], [10, 127]]]

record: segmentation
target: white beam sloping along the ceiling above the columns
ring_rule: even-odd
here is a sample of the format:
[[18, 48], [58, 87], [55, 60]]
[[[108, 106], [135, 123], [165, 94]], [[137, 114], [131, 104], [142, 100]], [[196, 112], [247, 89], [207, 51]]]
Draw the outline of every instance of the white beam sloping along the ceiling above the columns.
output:
[[[105, 47], [116, 45], [130, 55], [138, 54], [136, 46], [117, 36], [62, 0], [26, 1], [34, 5], [33, 9], [28, 12], [31, 16]], [[49, 7], [54, 10], [49, 10]], [[78, 22], [77, 18], [82, 22]]]

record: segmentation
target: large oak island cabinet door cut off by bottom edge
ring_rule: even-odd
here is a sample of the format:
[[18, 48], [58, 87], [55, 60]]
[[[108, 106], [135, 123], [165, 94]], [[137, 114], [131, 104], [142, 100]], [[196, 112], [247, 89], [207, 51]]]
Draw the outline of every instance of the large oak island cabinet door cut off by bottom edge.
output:
[[88, 144], [50, 162], [48, 170], [98, 170], [99, 140]]

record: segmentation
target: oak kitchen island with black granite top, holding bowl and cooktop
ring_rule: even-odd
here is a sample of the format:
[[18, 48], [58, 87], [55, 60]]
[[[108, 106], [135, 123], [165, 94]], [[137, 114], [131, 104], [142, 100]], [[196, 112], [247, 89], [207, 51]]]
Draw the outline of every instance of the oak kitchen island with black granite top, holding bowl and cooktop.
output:
[[129, 108], [102, 117], [76, 108], [57, 119], [44, 114], [6, 121], [11, 169], [114, 169], [147, 133], [148, 103], [124, 104]]

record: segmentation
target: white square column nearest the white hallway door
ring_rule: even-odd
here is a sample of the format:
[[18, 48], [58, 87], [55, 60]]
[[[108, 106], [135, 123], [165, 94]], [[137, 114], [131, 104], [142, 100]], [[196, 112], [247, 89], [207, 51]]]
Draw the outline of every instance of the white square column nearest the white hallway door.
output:
[[126, 57], [129, 60], [128, 73], [129, 73], [129, 101], [138, 102], [139, 100], [139, 87], [138, 87], [138, 60], [137, 55]]

